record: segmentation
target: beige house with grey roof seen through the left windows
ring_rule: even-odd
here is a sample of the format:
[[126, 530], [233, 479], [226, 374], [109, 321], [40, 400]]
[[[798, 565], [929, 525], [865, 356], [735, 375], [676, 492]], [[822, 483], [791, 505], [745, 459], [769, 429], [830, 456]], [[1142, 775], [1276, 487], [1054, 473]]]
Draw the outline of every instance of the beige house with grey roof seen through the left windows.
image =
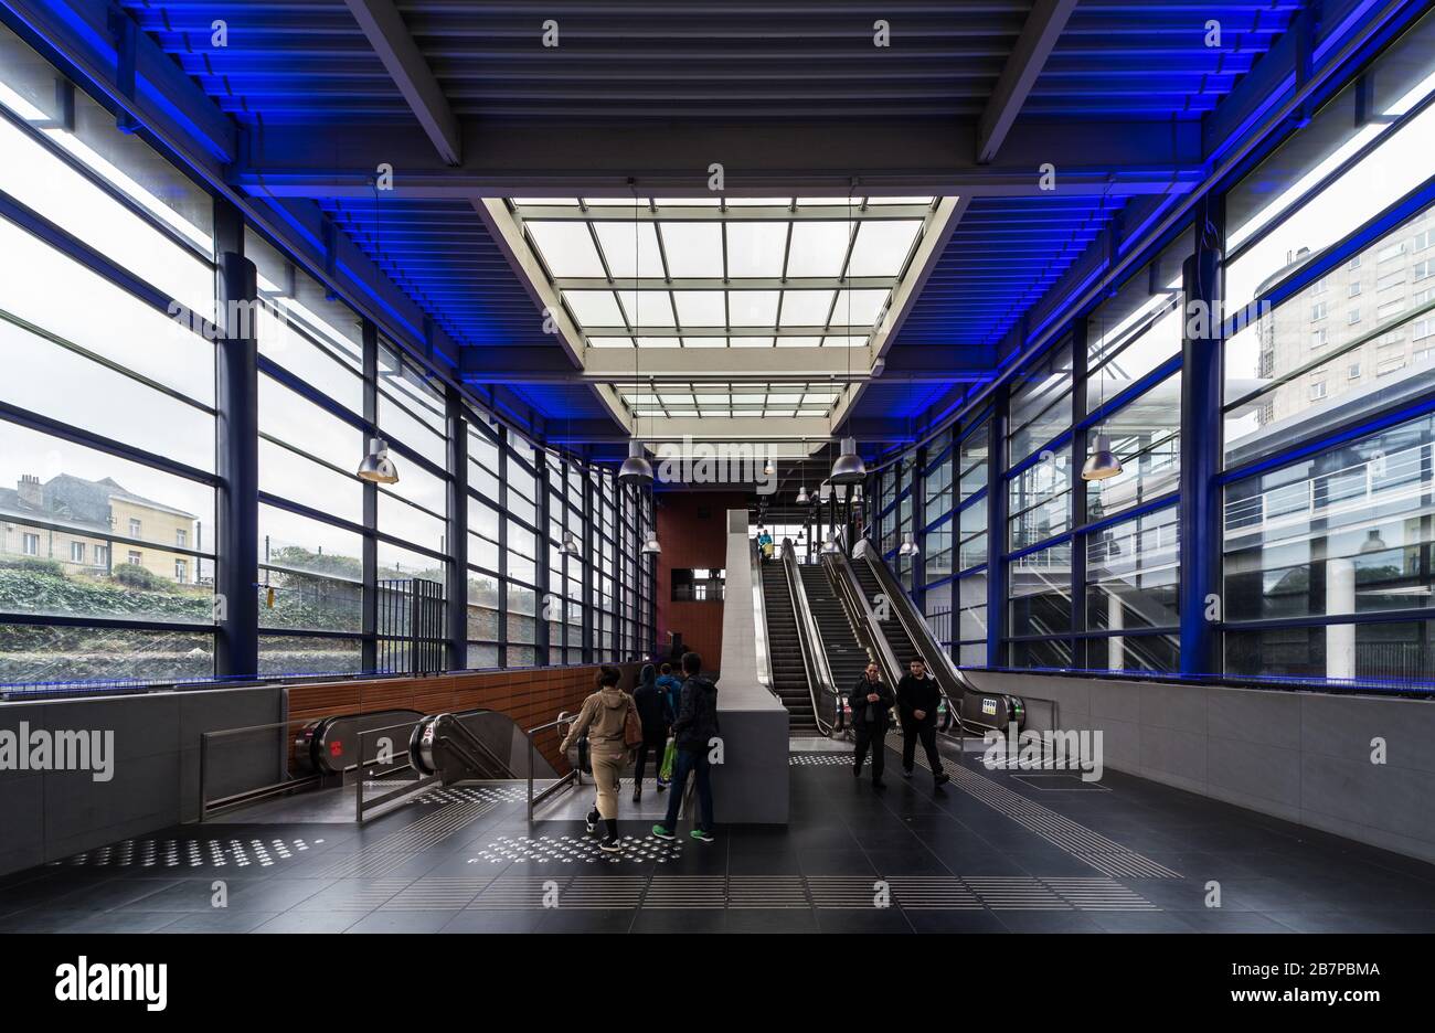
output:
[[26, 473], [14, 489], [0, 488], [0, 560], [53, 560], [67, 574], [108, 577], [119, 564], [135, 564], [195, 584], [195, 557], [165, 545], [197, 549], [199, 529], [192, 514], [135, 495], [110, 478], [60, 473], [42, 484]]

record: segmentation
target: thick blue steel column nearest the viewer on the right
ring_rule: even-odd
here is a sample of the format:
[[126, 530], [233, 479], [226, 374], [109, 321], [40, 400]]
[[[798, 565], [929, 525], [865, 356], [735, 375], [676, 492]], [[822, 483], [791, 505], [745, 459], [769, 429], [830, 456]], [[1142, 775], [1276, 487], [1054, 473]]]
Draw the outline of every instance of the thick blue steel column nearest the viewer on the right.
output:
[[[1203, 232], [1201, 227], [1208, 227]], [[1181, 343], [1181, 673], [1221, 671], [1220, 626], [1208, 600], [1221, 588], [1221, 251], [1220, 220], [1201, 205], [1185, 260]]]

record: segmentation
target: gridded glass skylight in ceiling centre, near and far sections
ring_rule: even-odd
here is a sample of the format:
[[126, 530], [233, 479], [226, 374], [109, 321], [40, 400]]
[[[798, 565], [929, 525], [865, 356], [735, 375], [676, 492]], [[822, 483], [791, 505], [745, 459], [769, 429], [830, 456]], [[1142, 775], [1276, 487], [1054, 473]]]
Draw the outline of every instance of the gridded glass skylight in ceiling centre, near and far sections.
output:
[[[924, 220], [913, 215], [933, 211], [936, 198], [644, 197], [636, 209], [623, 197], [518, 198], [509, 205], [552, 278], [550, 287], [593, 347], [855, 349], [870, 334], [773, 337], [772, 330], [872, 327], [924, 232]], [[903, 211], [891, 211], [894, 205]], [[636, 288], [634, 275], [646, 283]], [[607, 287], [598, 288], [606, 277]], [[850, 291], [848, 277], [864, 283]], [[732, 369], [755, 372], [736, 356]], [[657, 415], [680, 406], [715, 418], [827, 416], [841, 397], [827, 382], [705, 382], [687, 385], [686, 395], [679, 385], [660, 387], [672, 402], [640, 392], [624, 393], [624, 403]]]

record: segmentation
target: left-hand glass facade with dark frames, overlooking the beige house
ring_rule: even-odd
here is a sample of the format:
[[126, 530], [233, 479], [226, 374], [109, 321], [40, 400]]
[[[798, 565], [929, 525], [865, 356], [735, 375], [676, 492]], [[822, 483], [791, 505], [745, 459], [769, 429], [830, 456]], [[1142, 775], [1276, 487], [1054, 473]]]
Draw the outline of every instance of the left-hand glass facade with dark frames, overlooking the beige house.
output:
[[[257, 610], [260, 676], [377, 673], [418, 581], [466, 605], [456, 641], [425, 633], [448, 669], [650, 653], [650, 501], [494, 420], [253, 227], [258, 565], [253, 597], [221, 597], [224, 202], [6, 29], [0, 149], [0, 684], [227, 677], [230, 607]], [[375, 436], [396, 484], [354, 475]]]

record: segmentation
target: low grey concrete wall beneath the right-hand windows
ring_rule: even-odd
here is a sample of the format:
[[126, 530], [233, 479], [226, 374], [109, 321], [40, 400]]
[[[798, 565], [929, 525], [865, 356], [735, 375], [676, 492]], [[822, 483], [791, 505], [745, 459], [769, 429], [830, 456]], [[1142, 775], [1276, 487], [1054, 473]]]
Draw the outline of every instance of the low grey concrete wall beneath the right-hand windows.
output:
[[[1027, 727], [1101, 729], [1106, 766], [1435, 861], [1435, 702], [967, 671]], [[1383, 739], [1386, 763], [1370, 762]]]

